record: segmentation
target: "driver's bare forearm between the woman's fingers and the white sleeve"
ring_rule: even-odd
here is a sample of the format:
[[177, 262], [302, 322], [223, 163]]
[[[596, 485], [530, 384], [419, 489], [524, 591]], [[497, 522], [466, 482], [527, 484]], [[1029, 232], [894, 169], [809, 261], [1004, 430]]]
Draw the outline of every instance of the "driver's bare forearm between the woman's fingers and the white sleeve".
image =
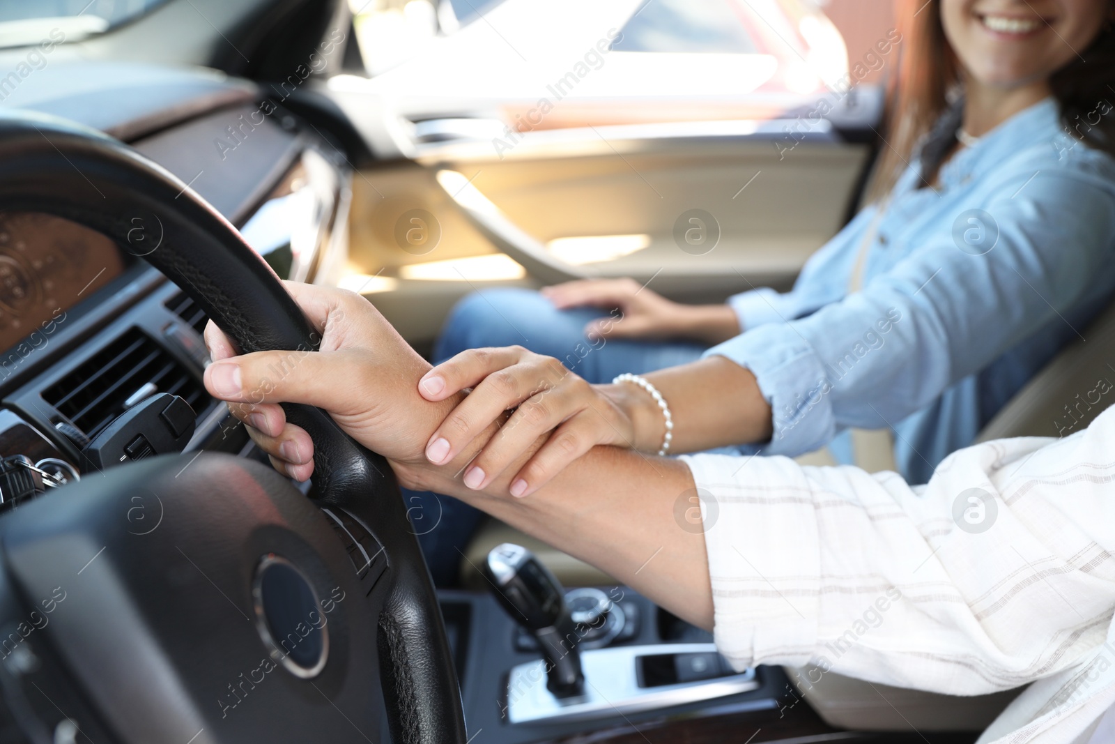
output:
[[486, 436], [443, 465], [392, 462], [405, 485], [456, 496], [632, 587], [699, 627], [712, 627], [712, 593], [692, 475], [680, 462], [595, 447], [525, 499], [507, 495], [511, 476], [542, 445], [483, 491], [459, 472]]

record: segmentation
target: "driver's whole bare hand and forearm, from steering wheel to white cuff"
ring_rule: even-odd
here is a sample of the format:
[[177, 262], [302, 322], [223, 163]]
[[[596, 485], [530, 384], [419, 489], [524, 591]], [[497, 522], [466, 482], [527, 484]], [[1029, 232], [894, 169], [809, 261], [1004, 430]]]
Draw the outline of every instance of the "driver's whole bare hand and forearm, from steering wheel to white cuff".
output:
[[345, 433], [386, 456], [408, 487], [436, 490], [483, 509], [600, 567], [679, 617], [712, 627], [704, 534], [680, 530], [673, 515], [678, 499], [695, 489], [683, 463], [593, 447], [532, 490], [530, 499], [508, 497], [511, 474], [545, 445], [543, 434], [502, 475], [489, 476], [482, 490], [467, 487], [462, 472], [495, 436], [496, 424], [474, 436], [448, 463], [432, 464], [427, 445], [464, 395], [423, 397], [418, 381], [430, 370], [429, 364], [359, 294], [290, 282], [287, 289], [322, 335], [320, 351], [236, 356], [215, 326], [205, 329], [214, 359], [205, 370], [205, 387], [230, 402], [280, 472], [309, 477], [313, 443], [303, 429], [287, 423], [278, 404], [319, 406]]

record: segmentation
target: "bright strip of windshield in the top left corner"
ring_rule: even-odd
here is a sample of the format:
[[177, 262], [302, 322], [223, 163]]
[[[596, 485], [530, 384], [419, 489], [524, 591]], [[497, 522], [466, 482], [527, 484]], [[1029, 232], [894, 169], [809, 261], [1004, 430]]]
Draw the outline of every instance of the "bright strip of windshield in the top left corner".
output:
[[0, 47], [39, 44], [51, 30], [67, 41], [142, 16], [166, 0], [0, 0]]

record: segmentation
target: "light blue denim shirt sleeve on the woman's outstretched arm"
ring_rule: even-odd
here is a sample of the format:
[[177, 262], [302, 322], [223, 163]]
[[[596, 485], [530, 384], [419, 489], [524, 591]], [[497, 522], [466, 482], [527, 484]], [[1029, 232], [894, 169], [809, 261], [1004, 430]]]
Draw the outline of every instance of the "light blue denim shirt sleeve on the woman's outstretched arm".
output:
[[[948, 230], [935, 231], [862, 291], [706, 352], [755, 374], [773, 409], [765, 453], [811, 452], [849, 426], [893, 426], [1061, 316], [1112, 270], [1109, 183], [1064, 171], [1029, 177], [1025, 190], [1025, 176], [1007, 181], [979, 205], [997, 234], [989, 252], [964, 252]], [[967, 207], [942, 218], [951, 226]]]

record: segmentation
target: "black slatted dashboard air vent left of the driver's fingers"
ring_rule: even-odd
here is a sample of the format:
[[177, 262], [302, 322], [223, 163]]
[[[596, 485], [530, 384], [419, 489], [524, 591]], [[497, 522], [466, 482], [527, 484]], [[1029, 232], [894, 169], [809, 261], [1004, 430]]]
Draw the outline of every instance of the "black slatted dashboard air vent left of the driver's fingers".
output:
[[152, 385], [158, 393], [181, 395], [198, 418], [213, 404], [201, 380], [138, 328], [45, 389], [42, 398], [93, 438], [124, 413], [125, 400]]

